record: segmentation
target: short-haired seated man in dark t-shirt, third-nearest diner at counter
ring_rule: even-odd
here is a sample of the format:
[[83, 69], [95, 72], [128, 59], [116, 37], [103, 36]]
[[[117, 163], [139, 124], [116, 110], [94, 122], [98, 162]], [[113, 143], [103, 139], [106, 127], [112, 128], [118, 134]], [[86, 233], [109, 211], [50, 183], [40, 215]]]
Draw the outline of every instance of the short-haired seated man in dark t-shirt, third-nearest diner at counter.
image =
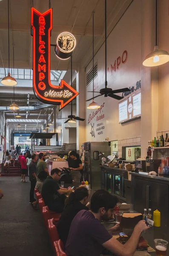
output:
[[63, 212], [66, 199], [65, 194], [72, 192], [72, 189], [65, 189], [59, 186], [58, 180], [61, 171], [57, 168], [52, 169], [51, 175], [47, 177], [42, 186], [42, 197], [49, 210]]

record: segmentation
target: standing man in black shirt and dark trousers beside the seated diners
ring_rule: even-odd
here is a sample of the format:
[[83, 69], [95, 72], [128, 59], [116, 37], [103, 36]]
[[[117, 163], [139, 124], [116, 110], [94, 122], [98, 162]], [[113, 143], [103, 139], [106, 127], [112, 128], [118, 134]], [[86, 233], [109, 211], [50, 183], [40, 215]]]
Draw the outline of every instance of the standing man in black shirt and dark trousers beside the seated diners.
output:
[[30, 189], [30, 204], [32, 204], [36, 199], [34, 199], [34, 188], [36, 185], [36, 161], [37, 155], [32, 154], [32, 161], [29, 164], [29, 180], [31, 182], [31, 189]]

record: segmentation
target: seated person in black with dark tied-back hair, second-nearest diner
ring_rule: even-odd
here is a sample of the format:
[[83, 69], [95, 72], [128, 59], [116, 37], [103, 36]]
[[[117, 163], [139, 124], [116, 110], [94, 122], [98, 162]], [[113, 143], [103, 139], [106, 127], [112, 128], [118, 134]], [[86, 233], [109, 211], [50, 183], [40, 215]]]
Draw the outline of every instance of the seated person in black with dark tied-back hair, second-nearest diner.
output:
[[[73, 189], [73, 187], [72, 187]], [[63, 244], [66, 245], [66, 241], [69, 235], [70, 225], [74, 216], [81, 210], [89, 210], [86, 206], [89, 201], [89, 192], [85, 187], [79, 187], [72, 192], [65, 201], [65, 208], [59, 219], [57, 225], [57, 231]]]

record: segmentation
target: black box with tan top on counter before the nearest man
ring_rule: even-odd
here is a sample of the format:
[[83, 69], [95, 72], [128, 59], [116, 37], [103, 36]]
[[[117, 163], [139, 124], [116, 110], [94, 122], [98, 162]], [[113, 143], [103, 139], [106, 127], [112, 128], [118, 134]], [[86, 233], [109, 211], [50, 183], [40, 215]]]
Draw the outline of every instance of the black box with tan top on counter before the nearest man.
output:
[[141, 213], [123, 213], [120, 221], [120, 228], [134, 229], [139, 221], [143, 220]]

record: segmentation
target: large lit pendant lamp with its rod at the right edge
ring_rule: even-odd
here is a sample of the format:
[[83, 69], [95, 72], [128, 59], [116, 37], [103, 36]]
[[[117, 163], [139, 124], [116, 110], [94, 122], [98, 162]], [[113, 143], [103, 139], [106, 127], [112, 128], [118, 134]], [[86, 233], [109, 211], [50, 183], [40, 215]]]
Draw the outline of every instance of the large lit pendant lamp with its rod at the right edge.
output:
[[153, 52], [150, 52], [145, 60], [143, 66], [145, 67], [157, 67], [163, 65], [169, 61], [169, 53], [165, 50], [158, 49], [157, 44], [157, 0], [155, 2], [155, 48]]

